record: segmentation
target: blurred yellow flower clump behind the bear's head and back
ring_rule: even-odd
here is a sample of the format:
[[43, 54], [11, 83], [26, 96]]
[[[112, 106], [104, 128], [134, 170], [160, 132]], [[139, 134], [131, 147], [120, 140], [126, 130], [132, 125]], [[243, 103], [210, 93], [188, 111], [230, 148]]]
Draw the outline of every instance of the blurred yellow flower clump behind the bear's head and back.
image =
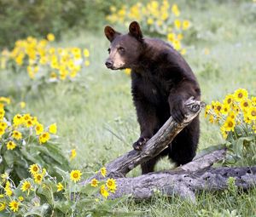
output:
[[190, 21], [180, 18], [181, 12], [176, 3], [171, 5], [167, 0], [151, 0], [145, 4], [136, 3], [131, 7], [123, 5], [120, 9], [112, 6], [110, 11], [107, 20], [113, 24], [128, 26], [132, 20], [137, 20], [144, 31], [158, 37], [166, 37], [174, 49], [181, 54], [186, 53], [182, 40], [183, 32], [189, 29]]

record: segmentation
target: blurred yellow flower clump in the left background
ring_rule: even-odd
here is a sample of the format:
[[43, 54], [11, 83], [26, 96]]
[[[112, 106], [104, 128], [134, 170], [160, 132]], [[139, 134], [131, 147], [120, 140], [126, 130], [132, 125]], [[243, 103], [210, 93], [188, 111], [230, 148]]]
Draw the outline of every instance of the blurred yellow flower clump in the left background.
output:
[[27, 71], [35, 83], [52, 83], [73, 80], [79, 75], [82, 67], [90, 65], [88, 49], [55, 48], [50, 42], [55, 40], [52, 33], [47, 39], [38, 40], [27, 37], [15, 42], [11, 51], [4, 49], [0, 55], [2, 69], [20, 72]]

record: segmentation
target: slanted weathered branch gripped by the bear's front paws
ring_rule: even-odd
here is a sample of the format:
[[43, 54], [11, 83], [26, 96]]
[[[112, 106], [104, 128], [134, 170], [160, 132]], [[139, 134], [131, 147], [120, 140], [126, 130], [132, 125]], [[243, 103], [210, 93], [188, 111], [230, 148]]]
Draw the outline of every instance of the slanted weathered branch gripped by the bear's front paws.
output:
[[[183, 123], [176, 123], [172, 117], [170, 117], [160, 130], [143, 146], [142, 151], [129, 151], [125, 153], [125, 155], [108, 163], [106, 165], [108, 177], [125, 177], [125, 174], [137, 167], [137, 165], [160, 154], [160, 152], [166, 149], [168, 144], [172, 142], [175, 136], [199, 114], [204, 103], [190, 98], [185, 102], [185, 106], [188, 112]], [[95, 174], [90, 177], [89, 180], [85, 181], [85, 183], [94, 178], [102, 180], [102, 175], [100, 173]]]

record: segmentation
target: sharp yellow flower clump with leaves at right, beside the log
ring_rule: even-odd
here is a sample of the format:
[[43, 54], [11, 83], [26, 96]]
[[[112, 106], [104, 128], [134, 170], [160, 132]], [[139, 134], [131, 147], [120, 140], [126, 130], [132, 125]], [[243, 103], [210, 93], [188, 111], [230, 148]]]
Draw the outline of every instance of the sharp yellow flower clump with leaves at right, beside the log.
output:
[[256, 97], [248, 97], [246, 89], [236, 89], [223, 100], [207, 105], [205, 117], [220, 125], [228, 148], [224, 163], [255, 165], [256, 163]]

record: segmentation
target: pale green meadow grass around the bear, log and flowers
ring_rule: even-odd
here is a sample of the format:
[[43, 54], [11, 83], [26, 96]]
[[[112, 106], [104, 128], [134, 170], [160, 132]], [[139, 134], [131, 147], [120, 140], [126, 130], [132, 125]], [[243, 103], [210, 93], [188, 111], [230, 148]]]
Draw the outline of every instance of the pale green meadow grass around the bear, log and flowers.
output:
[[[186, 40], [188, 54], [185, 59], [195, 71], [201, 85], [202, 100], [221, 100], [235, 89], [247, 89], [256, 94], [256, 28], [250, 22], [252, 13], [247, 1], [191, 1], [181, 3], [182, 13], [193, 22], [197, 37], [191, 34]], [[200, 2], [200, 3], [199, 3]], [[221, 2], [221, 1], [219, 1]], [[103, 29], [103, 26], [102, 26]], [[79, 46], [90, 49], [91, 66], [82, 72], [78, 83], [60, 83], [45, 86], [40, 92], [30, 91], [21, 96], [17, 85], [27, 77], [9, 77], [1, 73], [0, 94], [16, 101], [25, 100], [26, 111], [38, 116], [43, 123], [58, 123], [58, 134], [64, 151], [76, 146], [78, 157], [74, 167], [95, 171], [108, 161], [131, 150], [139, 136], [139, 127], [130, 94], [130, 77], [121, 71], [109, 71], [104, 66], [108, 56], [108, 41], [102, 32], [89, 30], [59, 42], [58, 46]], [[204, 49], [210, 54], [204, 54]], [[201, 140], [199, 150], [218, 145], [223, 139], [218, 127], [212, 126], [201, 115]], [[158, 163], [157, 169], [170, 168], [167, 159]], [[129, 176], [140, 174], [140, 169]], [[154, 197], [136, 203], [127, 201], [121, 207], [141, 210], [142, 216], [255, 216], [256, 191], [234, 195], [199, 193], [197, 203], [176, 197]], [[204, 209], [205, 211], [203, 211]], [[231, 212], [236, 210], [236, 214]], [[235, 211], [234, 211], [235, 212]]]

